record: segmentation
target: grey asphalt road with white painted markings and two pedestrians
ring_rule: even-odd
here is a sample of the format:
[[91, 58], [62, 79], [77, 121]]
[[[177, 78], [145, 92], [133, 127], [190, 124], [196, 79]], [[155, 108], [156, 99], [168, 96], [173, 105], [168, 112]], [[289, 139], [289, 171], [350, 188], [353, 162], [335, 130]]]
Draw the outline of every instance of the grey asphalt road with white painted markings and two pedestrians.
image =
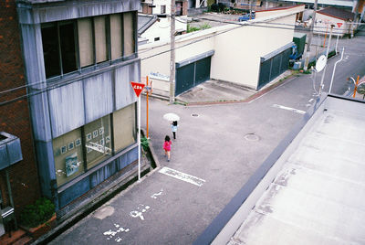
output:
[[[347, 77], [365, 73], [365, 37], [340, 40], [341, 45], [346, 60], [336, 72], [339, 94], [348, 89]], [[328, 62], [324, 91], [337, 59]], [[300, 75], [247, 103], [185, 107], [150, 100], [150, 137], [161, 167], [51, 244], [191, 244], [313, 104], [312, 85], [311, 75]], [[171, 162], [162, 153], [163, 138], [171, 135], [162, 119], [167, 112], [182, 118]], [[144, 113], [143, 99], [145, 128]], [[164, 166], [175, 177], [160, 173]]]

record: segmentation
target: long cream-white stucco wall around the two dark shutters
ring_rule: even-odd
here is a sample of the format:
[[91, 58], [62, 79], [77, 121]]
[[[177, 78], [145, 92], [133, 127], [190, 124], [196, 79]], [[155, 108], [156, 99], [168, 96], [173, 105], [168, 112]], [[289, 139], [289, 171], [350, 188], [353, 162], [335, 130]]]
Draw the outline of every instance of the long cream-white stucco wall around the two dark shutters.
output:
[[[289, 16], [276, 16], [268, 23], [255, 24], [255, 21], [260, 21], [255, 19], [252, 26], [248, 26], [247, 23], [242, 27], [229, 24], [178, 36], [176, 47], [191, 44], [175, 50], [176, 62], [214, 50], [211, 63], [212, 79], [234, 82], [256, 89], [260, 58], [293, 40], [295, 20], [296, 13]], [[280, 26], [274, 24], [289, 24], [293, 28], [275, 28]], [[225, 33], [217, 35], [222, 32]], [[165, 92], [169, 91], [170, 52], [150, 59], [146, 58], [169, 49], [168, 41], [139, 47], [141, 77], [158, 72], [164, 79], [151, 79], [153, 88]]]

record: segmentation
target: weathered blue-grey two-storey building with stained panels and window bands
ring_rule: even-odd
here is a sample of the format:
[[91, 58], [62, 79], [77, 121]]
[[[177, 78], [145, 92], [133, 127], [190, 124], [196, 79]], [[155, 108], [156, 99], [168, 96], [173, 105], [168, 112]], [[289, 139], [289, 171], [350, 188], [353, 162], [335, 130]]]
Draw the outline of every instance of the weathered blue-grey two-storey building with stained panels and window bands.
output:
[[140, 2], [16, 7], [41, 193], [59, 211], [138, 158], [130, 81], [140, 80]]

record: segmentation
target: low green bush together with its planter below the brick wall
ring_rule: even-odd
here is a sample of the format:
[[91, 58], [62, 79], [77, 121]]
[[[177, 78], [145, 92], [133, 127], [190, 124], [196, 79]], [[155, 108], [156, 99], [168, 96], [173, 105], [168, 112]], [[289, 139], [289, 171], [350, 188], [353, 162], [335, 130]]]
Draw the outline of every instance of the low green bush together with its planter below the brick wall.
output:
[[56, 225], [55, 205], [45, 197], [28, 205], [20, 214], [20, 224], [32, 238], [37, 239]]

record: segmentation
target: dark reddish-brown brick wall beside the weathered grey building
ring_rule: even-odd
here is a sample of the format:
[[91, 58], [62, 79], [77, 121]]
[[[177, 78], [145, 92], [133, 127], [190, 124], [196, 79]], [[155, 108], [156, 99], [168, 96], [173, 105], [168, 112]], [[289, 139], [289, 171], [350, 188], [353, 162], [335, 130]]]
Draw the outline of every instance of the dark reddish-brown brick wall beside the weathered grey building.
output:
[[[0, 1], [0, 91], [26, 84], [20, 44], [20, 31], [16, 13], [16, 0]], [[0, 102], [25, 95], [26, 90], [16, 90], [0, 95]], [[23, 160], [8, 167], [16, 216], [27, 204], [40, 197], [31, 124], [26, 99], [0, 105], [0, 131], [19, 137]], [[5, 187], [5, 170], [0, 171], [0, 190], [5, 205], [9, 205]]]

